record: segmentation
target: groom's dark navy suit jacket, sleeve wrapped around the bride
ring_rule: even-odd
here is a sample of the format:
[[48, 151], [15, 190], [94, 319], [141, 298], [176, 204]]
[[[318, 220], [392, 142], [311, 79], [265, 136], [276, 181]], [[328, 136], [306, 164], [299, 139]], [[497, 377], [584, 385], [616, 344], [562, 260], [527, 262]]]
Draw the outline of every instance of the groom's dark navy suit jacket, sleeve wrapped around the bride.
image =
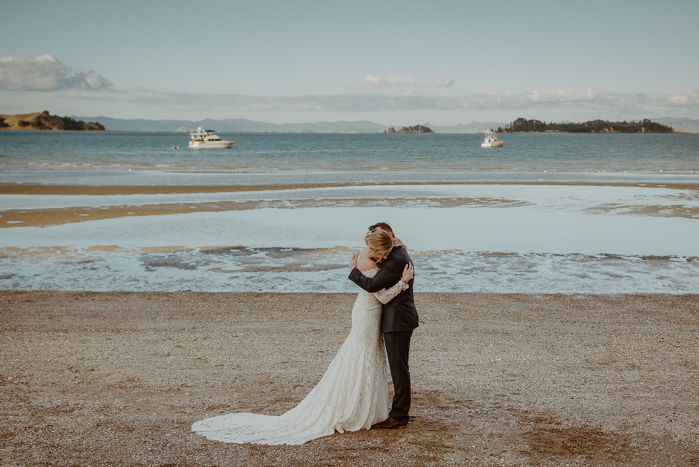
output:
[[[412, 262], [408, 251], [403, 247], [394, 248], [389, 253], [389, 257], [381, 263], [381, 269], [375, 276], [367, 277], [355, 267], [349, 273], [349, 280], [369, 293], [378, 292], [395, 286], [401, 280], [403, 269], [408, 262]], [[415, 299], [412, 296], [413, 283], [415, 278], [408, 282], [408, 290], [403, 290], [390, 302], [384, 304], [381, 313], [381, 332], [412, 331], [419, 326]]]

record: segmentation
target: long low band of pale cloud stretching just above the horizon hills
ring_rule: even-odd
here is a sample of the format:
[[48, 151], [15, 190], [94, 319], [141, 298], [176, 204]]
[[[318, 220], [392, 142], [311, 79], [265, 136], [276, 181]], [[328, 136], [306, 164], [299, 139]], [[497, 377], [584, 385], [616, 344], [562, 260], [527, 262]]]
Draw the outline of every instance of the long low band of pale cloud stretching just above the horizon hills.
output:
[[229, 108], [252, 112], [380, 112], [394, 110], [589, 110], [602, 114], [699, 112], [699, 88], [683, 93], [625, 93], [594, 89], [547, 91], [474, 91], [455, 96], [401, 94], [298, 94], [245, 96], [239, 94], [187, 94], [149, 89], [91, 99], [128, 100], [140, 105], [206, 110]]

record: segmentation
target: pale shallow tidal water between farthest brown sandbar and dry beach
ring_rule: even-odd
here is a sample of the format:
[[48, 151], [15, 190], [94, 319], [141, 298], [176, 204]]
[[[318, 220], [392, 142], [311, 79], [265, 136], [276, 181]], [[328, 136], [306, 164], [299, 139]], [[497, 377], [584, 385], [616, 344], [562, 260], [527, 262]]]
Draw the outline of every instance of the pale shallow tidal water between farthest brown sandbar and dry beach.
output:
[[699, 286], [693, 190], [418, 185], [0, 200], [4, 209], [27, 212], [76, 207], [75, 216], [96, 212], [77, 207], [272, 203], [219, 211], [196, 204], [193, 212], [187, 205], [161, 215], [137, 215], [133, 207], [116, 218], [13, 224], [0, 230], [5, 289], [352, 291], [347, 262], [377, 221], [389, 222], [408, 245], [417, 291], [690, 292]]

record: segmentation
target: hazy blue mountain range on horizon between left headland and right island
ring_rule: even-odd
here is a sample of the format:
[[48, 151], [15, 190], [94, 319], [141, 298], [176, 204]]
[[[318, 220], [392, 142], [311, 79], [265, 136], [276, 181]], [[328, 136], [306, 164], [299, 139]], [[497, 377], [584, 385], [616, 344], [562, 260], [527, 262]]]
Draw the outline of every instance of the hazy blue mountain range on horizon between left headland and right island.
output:
[[[99, 121], [107, 130], [112, 131], [180, 131], [189, 133], [198, 126], [206, 130], [215, 130], [221, 133], [381, 133], [390, 126], [376, 124], [373, 121], [318, 121], [305, 124], [268, 124], [264, 121], [248, 119], [224, 119], [224, 120], [143, 120], [143, 119], [112, 119], [109, 117], [72, 117], [77, 120]], [[470, 124], [454, 126], [432, 125], [429, 126], [439, 133], [482, 133], [490, 128], [498, 128], [504, 125], [500, 122], [473, 121]], [[394, 125], [401, 128], [401, 125]]]

